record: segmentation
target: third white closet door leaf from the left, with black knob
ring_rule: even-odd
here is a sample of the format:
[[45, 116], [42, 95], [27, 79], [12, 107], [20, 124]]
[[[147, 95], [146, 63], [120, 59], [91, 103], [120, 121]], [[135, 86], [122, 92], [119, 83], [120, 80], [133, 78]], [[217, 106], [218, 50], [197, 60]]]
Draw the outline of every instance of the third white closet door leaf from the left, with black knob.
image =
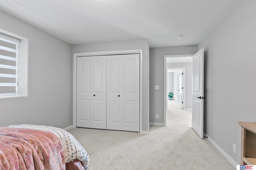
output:
[[107, 56], [107, 129], [122, 130], [123, 59]]

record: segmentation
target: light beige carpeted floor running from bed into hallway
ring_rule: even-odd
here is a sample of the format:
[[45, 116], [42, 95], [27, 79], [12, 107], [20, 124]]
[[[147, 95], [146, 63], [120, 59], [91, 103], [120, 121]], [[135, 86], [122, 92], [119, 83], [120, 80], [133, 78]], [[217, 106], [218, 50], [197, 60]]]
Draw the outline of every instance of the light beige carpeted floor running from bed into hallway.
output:
[[191, 128], [191, 111], [168, 101], [166, 126], [148, 135], [117, 130], [69, 130], [90, 156], [90, 170], [234, 170], [207, 140]]

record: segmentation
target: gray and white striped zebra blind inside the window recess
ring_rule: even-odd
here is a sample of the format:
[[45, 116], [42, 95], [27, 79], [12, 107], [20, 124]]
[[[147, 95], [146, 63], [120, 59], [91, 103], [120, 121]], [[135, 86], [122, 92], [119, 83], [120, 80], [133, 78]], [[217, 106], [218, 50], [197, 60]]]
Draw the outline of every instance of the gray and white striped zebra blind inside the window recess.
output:
[[0, 34], [0, 95], [17, 93], [17, 47], [19, 40]]

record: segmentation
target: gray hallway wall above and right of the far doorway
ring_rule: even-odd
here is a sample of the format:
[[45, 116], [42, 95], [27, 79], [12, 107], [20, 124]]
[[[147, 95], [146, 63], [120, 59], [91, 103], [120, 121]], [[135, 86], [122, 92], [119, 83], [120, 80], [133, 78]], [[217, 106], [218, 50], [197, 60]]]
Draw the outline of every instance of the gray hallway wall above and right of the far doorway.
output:
[[167, 68], [185, 68], [185, 105], [184, 109], [192, 109], [192, 63], [166, 63]]

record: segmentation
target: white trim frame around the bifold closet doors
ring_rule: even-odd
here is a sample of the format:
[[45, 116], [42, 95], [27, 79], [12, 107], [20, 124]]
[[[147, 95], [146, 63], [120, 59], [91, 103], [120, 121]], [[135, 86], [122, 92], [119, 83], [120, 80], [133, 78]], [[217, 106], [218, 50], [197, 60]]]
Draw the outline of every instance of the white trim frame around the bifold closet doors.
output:
[[120, 51], [99, 51], [87, 53], [74, 53], [73, 56], [73, 128], [76, 128], [76, 59], [77, 57], [98, 56], [98, 55], [118, 55], [118, 54], [140, 54], [140, 133], [142, 132], [142, 69], [143, 69], [143, 50], [120, 50]]

